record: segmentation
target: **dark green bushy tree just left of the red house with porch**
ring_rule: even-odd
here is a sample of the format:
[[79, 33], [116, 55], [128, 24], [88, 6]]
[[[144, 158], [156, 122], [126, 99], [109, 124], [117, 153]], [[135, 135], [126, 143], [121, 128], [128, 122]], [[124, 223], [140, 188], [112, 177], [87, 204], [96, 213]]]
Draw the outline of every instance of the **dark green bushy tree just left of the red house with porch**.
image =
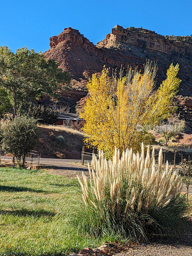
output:
[[29, 117], [34, 117], [39, 124], [54, 124], [58, 121], [58, 113], [55, 110], [46, 108], [43, 105], [31, 105], [28, 111]]

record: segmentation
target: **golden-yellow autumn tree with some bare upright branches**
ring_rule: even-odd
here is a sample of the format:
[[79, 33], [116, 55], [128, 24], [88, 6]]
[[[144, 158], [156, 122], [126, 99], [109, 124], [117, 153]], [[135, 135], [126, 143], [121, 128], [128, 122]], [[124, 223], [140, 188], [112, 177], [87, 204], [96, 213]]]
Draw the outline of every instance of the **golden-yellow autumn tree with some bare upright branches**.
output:
[[154, 137], [151, 133], [137, 131], [137, 126], [156, 125], [171, 116], [171, 102], [181, 80], [177, 78], [179, 65], [171, 64], [167, 78], [159, 89], [154, 91], [156, 66], [144, 65], [144, 73], [137, 68], [128, 68], [127, 75], [123, 70], [117, 76], [109, 75], [109, 69], [102, 70], [100, 76], [92, 75], [87, 83], [90, 93], [86, 100], [84, 132], [87, 143], [102, 149], [109, 158], [114, 148], [120, 153], [126, 148], [137, 151], [141, 142], [151, 144]]

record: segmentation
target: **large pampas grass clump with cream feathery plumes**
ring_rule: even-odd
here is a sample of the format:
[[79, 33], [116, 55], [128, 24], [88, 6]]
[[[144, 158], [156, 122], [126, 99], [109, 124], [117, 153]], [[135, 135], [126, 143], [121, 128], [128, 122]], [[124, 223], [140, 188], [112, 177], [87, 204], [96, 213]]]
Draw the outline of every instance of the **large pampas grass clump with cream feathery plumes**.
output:
[[99, 159], [88, 164], [90, 180], [84, 173], [83, 206], [78, 214], [78, 228], [92, 235], [113, 238], [146, 238], [149, 231], [169, 233], [181, 223], [187, 211], [183, 184], [176, 170], [162, 166], [162, 149], [158, 163], [155, 150], [144, 145], [141, 155], [132, 149], [120, 152], [115, 148], [113, 160], [107, 161], [99, 151]]

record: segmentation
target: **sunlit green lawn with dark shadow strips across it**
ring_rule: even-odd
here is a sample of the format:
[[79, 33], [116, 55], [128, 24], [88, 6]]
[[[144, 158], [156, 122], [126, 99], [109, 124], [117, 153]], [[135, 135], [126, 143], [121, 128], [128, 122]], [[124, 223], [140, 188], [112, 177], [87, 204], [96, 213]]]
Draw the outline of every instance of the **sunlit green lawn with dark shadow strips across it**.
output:
[[69, 213], [79, 206], [75, 179], [0, 168], [0, 254], [69, 255], [100, 245], [70, 226]]

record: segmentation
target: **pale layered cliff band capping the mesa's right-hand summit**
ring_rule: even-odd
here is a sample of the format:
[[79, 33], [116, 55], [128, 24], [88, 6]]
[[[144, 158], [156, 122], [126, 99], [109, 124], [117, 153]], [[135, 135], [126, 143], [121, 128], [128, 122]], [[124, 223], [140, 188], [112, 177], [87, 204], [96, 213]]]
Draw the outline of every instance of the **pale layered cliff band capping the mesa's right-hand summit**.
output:
[[166, 39], [165, 36], [143, 28], [123, 28], [122, 26], [116, 25], [112, 28], [111, 34], [107, 34], [104, 40], [97, 43], [97, 47], [110, 48], [115, 47], [115, 44], [131, 44], [135, 47], [153, 52], [165, 54], [177, 52], [182, 55], [192, 56], [191, 37], [183, 36], [182, 41], [176, 41], [177, 37], [173, 36], [173, 38], [175, 38], [175, 40]]

